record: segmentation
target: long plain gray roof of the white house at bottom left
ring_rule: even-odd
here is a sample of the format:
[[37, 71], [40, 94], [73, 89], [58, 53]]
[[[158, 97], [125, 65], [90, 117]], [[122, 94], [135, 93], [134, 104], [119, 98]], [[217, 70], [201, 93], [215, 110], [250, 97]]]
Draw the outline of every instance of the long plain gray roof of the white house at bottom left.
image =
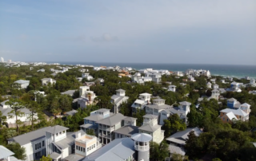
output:
[[25, 145], [26, 143], [30, 143], [36, 139], [41, 139], [42, 137], [46, 136], [46, 130], [50, 129], [51, 127], [40, 128], [33, 132], [28, 132], [26, 134], [18, 135], [13, 137], [16, 143], [19, 143], [21, 146]]

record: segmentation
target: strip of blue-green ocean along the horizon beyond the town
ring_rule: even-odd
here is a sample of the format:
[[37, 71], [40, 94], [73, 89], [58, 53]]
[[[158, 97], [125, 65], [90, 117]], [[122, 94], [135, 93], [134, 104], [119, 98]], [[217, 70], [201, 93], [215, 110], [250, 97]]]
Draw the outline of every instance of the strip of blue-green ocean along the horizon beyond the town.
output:
[[[53, 62], [46, 62], [53, 63]], [[170, 71], [182, 71], [186, 69], [206, 69], [211, 75], [222, 77], [250, 77], [256, 78], [256, 65], [185, 65], [185, 64], [150, 64], [150, 63], [99, 63], [99, 62], [56, 62], [61, 65], [94, 65], [132, 67], [133, 69], [166, 69]]]

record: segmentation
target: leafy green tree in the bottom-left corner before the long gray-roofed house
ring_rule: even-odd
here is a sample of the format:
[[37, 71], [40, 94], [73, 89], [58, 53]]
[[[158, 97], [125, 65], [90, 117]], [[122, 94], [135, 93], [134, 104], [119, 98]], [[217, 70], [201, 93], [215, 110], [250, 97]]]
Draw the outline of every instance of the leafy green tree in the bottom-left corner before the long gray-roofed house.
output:
[[25, 160], [26, 159], [26, 150], [25, 147], [21, 147], [19, 143], [9, 143], [6, 145], [10, 151], [14, 152], [14, 156], [17, 159]]

